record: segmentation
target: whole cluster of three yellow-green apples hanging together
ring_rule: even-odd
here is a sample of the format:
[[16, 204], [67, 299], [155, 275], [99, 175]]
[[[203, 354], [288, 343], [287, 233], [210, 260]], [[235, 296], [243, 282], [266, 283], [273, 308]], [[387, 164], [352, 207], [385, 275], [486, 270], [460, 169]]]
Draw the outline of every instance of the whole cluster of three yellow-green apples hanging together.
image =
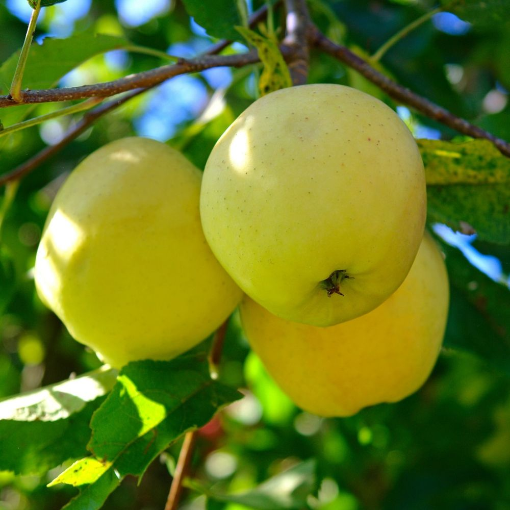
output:
[[284, 391], [348, 416], [413, 393], [436, 362], [448, 278], [425, 215], [423, 164], [395, 112], [304, 85], [243, 112], [203, 177], [154, 140], [95, 151], [54, 200], [35, 282], [116, 367], [186, 351], [240, 303]]

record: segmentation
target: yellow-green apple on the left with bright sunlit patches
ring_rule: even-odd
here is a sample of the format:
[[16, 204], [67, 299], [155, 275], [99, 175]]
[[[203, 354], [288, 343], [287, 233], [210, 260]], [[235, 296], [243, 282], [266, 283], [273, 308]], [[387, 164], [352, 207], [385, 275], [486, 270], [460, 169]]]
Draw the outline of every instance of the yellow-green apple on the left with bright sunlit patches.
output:
[[200, 180], [164, 143], [124, 138], [88, 156], [57, 193], [36, 288], [69, 333], [115, 367], [188, 350], [242, 297], [203, 236]]

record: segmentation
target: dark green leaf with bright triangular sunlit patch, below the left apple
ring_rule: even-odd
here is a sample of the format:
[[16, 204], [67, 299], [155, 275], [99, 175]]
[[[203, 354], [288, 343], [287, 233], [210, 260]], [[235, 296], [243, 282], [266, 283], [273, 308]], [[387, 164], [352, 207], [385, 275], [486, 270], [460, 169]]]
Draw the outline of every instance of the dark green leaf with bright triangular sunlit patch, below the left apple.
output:
[[169, 362], [130, 363], [94, 414], [89, 449], [97, 458], [117, 460], [122, 474], [141, 475], [168, 444], [205, 425], [219, 407], [240, 397], [211, 379], [201, 353]]

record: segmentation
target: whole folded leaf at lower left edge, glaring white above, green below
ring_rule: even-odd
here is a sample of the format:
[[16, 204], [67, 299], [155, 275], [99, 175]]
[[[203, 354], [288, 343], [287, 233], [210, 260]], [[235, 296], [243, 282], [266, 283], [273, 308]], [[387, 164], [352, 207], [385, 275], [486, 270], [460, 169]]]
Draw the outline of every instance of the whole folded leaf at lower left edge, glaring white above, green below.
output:
[[101, 368], [0, 402], [0, 470], [46, 470], [87, 454], [92, 413], [113, 387], [115, 371]]

